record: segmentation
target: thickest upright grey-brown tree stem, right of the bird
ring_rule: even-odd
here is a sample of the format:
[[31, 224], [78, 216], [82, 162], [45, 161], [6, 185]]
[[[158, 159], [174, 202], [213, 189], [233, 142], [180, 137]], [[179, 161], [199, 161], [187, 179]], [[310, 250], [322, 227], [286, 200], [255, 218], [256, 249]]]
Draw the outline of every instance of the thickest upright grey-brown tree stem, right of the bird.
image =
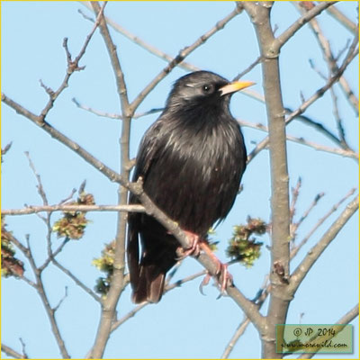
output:
[[[264, 58], [263, 84], [266, 97], [266, 112], [269, 128], [269, 152], [271, 165], [271, 211], [272, 211], [272, 251], [269, 309], [266, 316], [266, 331], [261, 333], [262, 356], [278, 358], [281, 354], [275, 351], [275, 324], [284, 324], [291, 298], [284, 296], [286, 279], [289, 277], [289, 239], [290, 239], [290, 205], [289, 175], [286, 155], [286, 132], [284, 105], [280, 86], [280, 69], [278, 51], [275, 47], [274, 33], [270, 23], [272, 4], [244, 2], [244, 7], [251, 17], [257, 31], [260, 54]], [[250, 6], [249, 10], [248, 7]], [[300, 27], [299, 27], [300, 28]], [[289, 37], [290, 38], [290, 37]], [[284, 39], [285, 41], [285, 39]], [[275, 51], [274, 51], [275, 49]], [[281, 269], [277, 271], [277, 269]]]

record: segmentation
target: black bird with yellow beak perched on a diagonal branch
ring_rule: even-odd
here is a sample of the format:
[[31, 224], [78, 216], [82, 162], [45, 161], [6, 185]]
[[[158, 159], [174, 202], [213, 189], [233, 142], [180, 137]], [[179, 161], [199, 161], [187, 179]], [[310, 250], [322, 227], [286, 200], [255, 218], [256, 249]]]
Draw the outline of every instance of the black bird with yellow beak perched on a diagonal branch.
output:
[[[223, 220], [235, 201], [247, 151], [229, 100], [253, 84], [229, 83], [208, 71], [185, 75], [175, 82], [165, 110], [141, 140], [133, 181], [141, 176], [145, 193], [193, 241]], [[130, 194], [129, 203], [139, 200]], [[128, 223], [132, 300], [158, 302], [180, 243], [145, 213], [129, 213]]]

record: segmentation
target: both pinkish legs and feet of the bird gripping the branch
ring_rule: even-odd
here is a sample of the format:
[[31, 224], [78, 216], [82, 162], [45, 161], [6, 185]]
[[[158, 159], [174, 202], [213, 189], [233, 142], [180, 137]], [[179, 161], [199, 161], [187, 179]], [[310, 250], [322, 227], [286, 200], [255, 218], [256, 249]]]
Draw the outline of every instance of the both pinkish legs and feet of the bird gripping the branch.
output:
[[[189, 239], [191, 246], [186, 249], [180, 247], [178, 249], [178, 252], [180, 252], [181, 254], [177, 258], [177, 260], [182, 260], [184, 259], [184, 257], [188, 257], [188, 256], [198, 257], [200, 252], [203, 251], [205, 254], [211, 257], [211, 259], [216, 263], [217, 268], [216, 268], [215, 276], [220, 286], [220, 292], [225, 293], [228, 282], [230, 284], [233, 284], [232, 275], [229, 274], [228, 265], [222, 264], [220, 262], [219, 258], [216, 257], [215, 254], [212, 252], [206, 240], [200, 238], [198, 235], [194, 234], [191, 231], [184, 230], [184, 233]], [[202, 292], [202, 286], [209, 284], [210, 278], [211, 278], [210, 274], [205, 275], [204, 279], [202, 280], [202, 284], [200, 285], [201, 292]]]

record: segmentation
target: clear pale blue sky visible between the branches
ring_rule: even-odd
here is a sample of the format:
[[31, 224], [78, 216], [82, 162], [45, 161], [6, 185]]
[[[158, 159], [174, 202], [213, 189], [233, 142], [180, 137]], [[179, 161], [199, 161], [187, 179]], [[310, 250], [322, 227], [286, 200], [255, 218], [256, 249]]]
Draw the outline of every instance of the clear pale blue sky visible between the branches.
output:
[[[356, 21], [356, 4], [342, 2], [337, 6], [350, 19]], [[232, 2], [110, 2], [106, 6], [105, 14], [142, 40], [175, 56], [179, 49], [192, 44], [229, 14], [233, 7]], [[39, 80], [56, 89], [65, 75], [63, 38], [68, 38], [70, 52], [76, 56], [86, 35], [92, 29], [92, 23], [78, 14], [78, 9], [90, 14], [84, 6], [76, 2], [2, 2], [2, 91], [31, 112], [39, 113], [48, 100]], [[298, 16], [293, 4], [276, 3], [273, 9], [273, 25], [278, 27], [276, 34], [284, 31]], [[321, 14], [319, 22], [335, 53], [344, 48], [347, 39], [352, 38], [351, 33], [329, 14]], [[118, 47], [128, 93], [132, 100], [165, 67], [166, 62], [139, 48], [115, 31], [112, 31], [112, 38]], [[194, 51], [186, 61], [231, 78], [251, 64], [257, 56], [257, 39], [253, 26], [247, 14], [240, 14], [224, 30], [219, 31]], [[319, 46], [309, 27], [305, 26], [282, 50], [280, 64], [285, 106], [297, 108], [302, 103], [301, 94], [307, 99], [324, 84], [320, 76], [311, 70], [310, 58], [321, 71], [328, 74]], [[86, 49], [80, 65], [85, 65], [85, 70], [72, 76], [69, 87], [60, 95], [49, 113], [48, 121], [104, 164], [119, 170], [120, 121], [100, 118], [85, 112], [76, 108], [71, 101], [76, 97], [80, 103], [94, 109], [119, 112], [112, 68], [98, 31]], [[185, 73], [183, 69], [175, 68], [157, 85], [155, 91], [148, 95], [140, 105], [139, 112], [162, 107], [171, 85]], [[357, 59], [347, 69], [345, 76], [358, 95]], [[257, 82], [253, 89], [263, 94], [261, 67], [255, 67], [245, 77]], [[338, 86], [336, 92], [347, 140], [350, 146], [358, 151], [356, 114]], [[264, 104], [244, 94], [233, 96], [231, 110], [240, 120], [266, 125]], [[336, 131], [332, 111], [330, 96], [326, 94], [309, 108], [306, 115]], [[135, 157], [144, 131], [156, 119], [157, 114], [152, 114], [132, 122], [131, 157]], [[248, 152], [265, 137], [265, 133], [259, 130], [244, 128], [243, 132]], [[288, 133], [334, 147], [329, 139], [299, 121], [293, 121], [288, 127]], [[110, 184], [92, 166], [51, 139], [31, 121], [2, 105], [2, 147], [10, 141], [13, 141], [13, 146], [6, 154], [2, 168], [2, 209], [22, 208], [25, 203], [40, 204], [36, 181], [23, 154], [24, 151], [30, 152], [31, 159], [41, 175], [49, 203], [57, 203], [66, 198], [84, 179], [87, 180], [86, 189], [94, 194], [96, 203], [116, 202], [115, 184]], [[316, 151], [293, 142], [288, 144], [288, 155], [291, 186], [302, 176], [302, 192], [295, 216], [299, 219], [317, 193], [326, 194], [299, 229], [298, 240], [301, 240], [335, 202], [338, 202], [349, 189], [357, 186], [357, 164], [354, 159]], [[245, 222], [247, 215], [269, 220], [269, 176], [268, 153], [263, 151], [248, 166], [243, 177], [244, 191], [238, 196], [228, 218], [217, 229], [220, 258], [225, 260], [224, 250], [227, 239], [231, 236], [232, 226]], [[345, 204], [339, 211], [344, 208]], [[294, 259], [292, 270], [337, 218], [339, 211], [317, 230], [307, 247]], [[58, 213], [53, 214], [52, 220], [57, 220], [59, 216]], [[91, 262], [94, 257], [100, 255], [103, 244], [114, 237], [116, 216], [114, 213], [89, 213], [88, 218], [93, 222], [86, 229], [85, 237], [80, 241], [70, 242], [58, 260], [64, 266], [68, 266], [87, 286], [93, 288], [95, 279], [101, 274]], [[14, 236], [20, 240], [24, 241], [25, 235], [30, 234], [31, 248], [40, 264], [46, 257], [46, 229], [42, 221], [31, 215], [9, 216], [6, 222], [8, 229], [13, 230]], [[358, 221], [354, 216], [313, 266], [311, 273], [296, 293], [289, 310], [289, 323], [298, 323], [301, 313], [304, 313], [302, 323], [332, 323], [358, 302], [357, 234]], [[57, 245], [59, 241], [54, 236], [53, 243]], [[269, 245], [267, 237], [264, 237], [263, 241]], [[175, 279], [181, 279], [200, 269], [201, 266], [193, 259], [186, 259]], [[25, 264], [25, 270], [29, 270], [29, 265]], [[265, 247], [262, 256], [252, 268], [231, 266], [235, 283], [249, 298], [255, 296], [268, 271], [269, 253]], [[30, 274], [30, 271], [27, 274]], [[157, 305], [148, 306], [135, 318], [127, 321], [112, 334], [104, 356], [219, 357], [239, 321], [243, 319], [243, 313], [229, 298], [216, 300], [218, 292], [212, 286], [205, 289], [207, 296], [202, 296], [198, 291], [200, 281], [198, 279], [184, 284], [182, 288], [166, 294]], [[99, 307], [56, 268], [49, 268], [44, 275], [44, 282], [49, 289], [52, 305], [62, 298], [67, 286], [68, 296], [58, 311], [58, 323], [69, 353], [73, 357], [84, 357], [94, 341]], [[130, 289], [127, 289], [121, 296], [119, 317], [132, 308]], [[29, 356], [59, 356], [40, 300], [27, 284], [13, 278], [2, 279], [2, 309], [2, 338], [6, 345], [21, 351], [19, 338], [23, 338]], [[266, 305], [263, 313], [264, 311]], [[357, 320], [353, 323], [356, 325]], [[356, 339], [357, 326], [355, 334]], [[259, 356], [260, 343], [257, 331], [249, 326], [231, 357]], [[354, 355], [334, 357], [358, 357], [358, 344], [356, 343]]]

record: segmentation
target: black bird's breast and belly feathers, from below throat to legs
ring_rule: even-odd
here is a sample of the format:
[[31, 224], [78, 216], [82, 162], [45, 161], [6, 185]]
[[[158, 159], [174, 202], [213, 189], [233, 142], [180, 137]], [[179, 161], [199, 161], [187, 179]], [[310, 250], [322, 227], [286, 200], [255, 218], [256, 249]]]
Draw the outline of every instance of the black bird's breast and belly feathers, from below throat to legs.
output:
[[202, 235], [228, 214], [238, 193], [242, 135], [236, 121], [166, 125], [144, 190], [183, 229]]

